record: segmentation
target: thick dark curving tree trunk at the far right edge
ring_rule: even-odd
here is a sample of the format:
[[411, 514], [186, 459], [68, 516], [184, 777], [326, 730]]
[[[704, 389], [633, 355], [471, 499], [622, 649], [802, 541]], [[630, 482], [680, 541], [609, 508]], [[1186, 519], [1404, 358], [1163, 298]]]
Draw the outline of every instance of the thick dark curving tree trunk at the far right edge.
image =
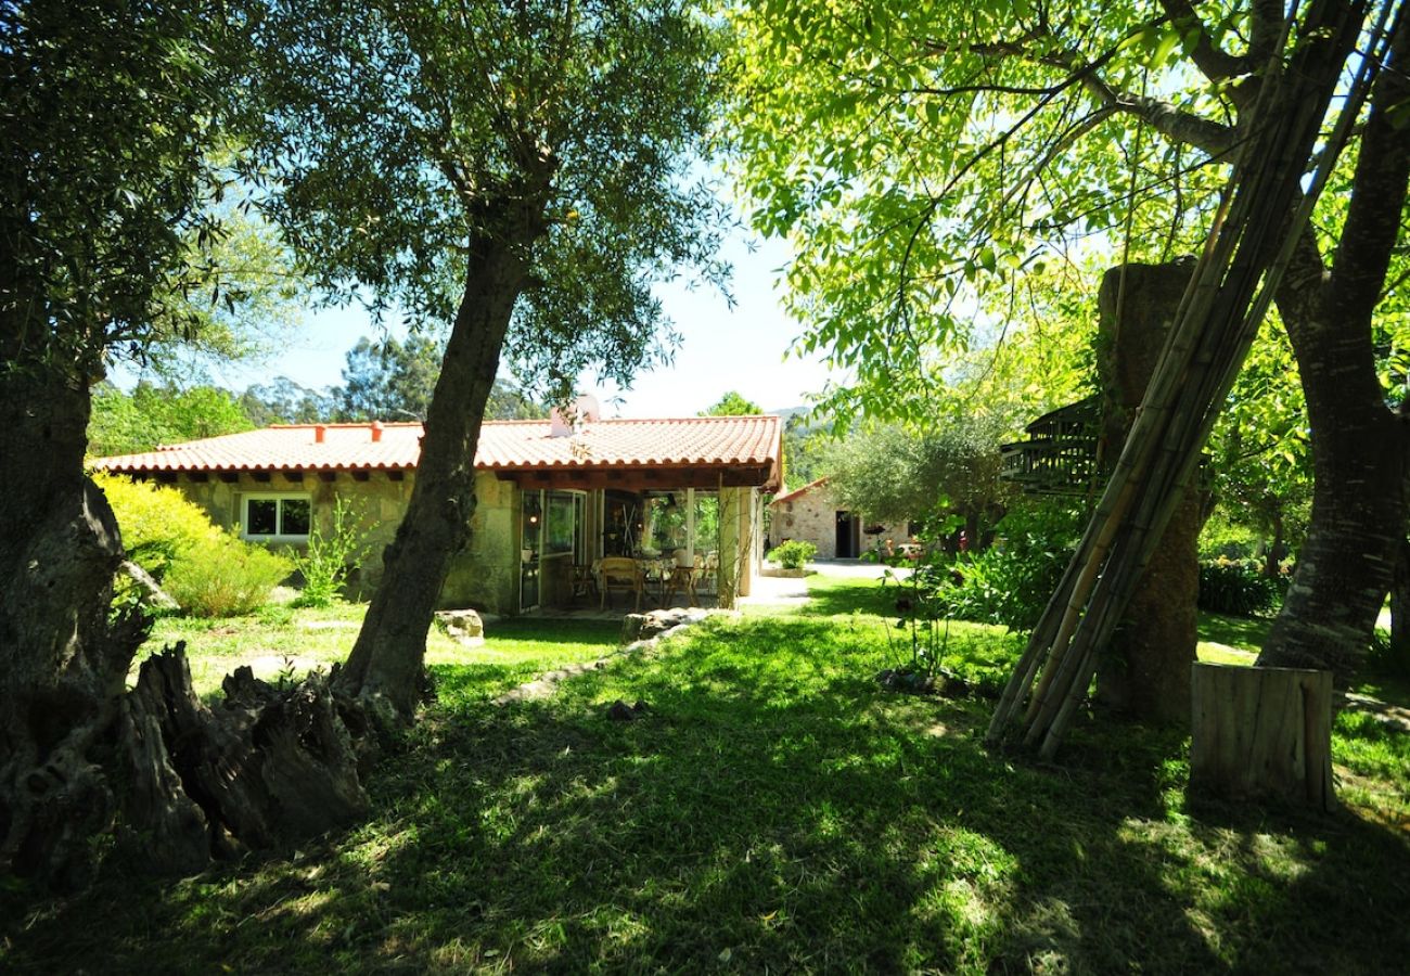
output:
[[1369, 645], [1404, 535], [1410, 419], [1387, 409], [1372, 316], [1410, 182], [1410, 138], [1387, 117], [1410, 100], [1410, 18], [1400, 17], [1328, 272], [1310, 234], [1277, 293], [1311, 425], [1313, 509], [1261, 666], [1328, 669], [1345, 684]]

